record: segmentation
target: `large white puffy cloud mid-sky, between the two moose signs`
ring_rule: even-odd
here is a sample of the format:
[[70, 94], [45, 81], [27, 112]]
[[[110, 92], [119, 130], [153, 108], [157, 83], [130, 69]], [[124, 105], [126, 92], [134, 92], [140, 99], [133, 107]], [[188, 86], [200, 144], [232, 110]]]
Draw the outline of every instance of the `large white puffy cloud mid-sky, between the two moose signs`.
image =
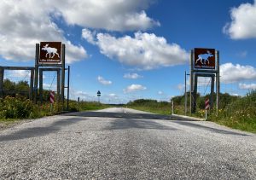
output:
[[154, 69], [185, 64], [189, 53], [178, 44], [168, 44], [166, 38], [154, 33], [136, 32], [134, 38], [115, 38], [108, 33], [98, 33], [96, 44], [103, 55], [138, 69]]

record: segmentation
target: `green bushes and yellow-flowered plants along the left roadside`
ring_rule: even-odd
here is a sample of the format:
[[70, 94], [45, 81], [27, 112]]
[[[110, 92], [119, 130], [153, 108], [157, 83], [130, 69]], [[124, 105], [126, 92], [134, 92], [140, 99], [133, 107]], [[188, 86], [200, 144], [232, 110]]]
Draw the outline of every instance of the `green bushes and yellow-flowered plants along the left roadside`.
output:
[[[49, 103], [49, 90], [43, 90], [43, 103], [34, 104], [28, 99], [29, 85], [26, 81], [18, 83], [5, 79], [3, 98], [0, 98], [0, 122], [16, 122], [17, 119], [36, 119], [67, 111], [61, 103]], [[8, 92], [8, 93], [6, 93]], [[18, 94], [15, 94], [18, 93]], [[66, 103], [67, 105], [67, 100]], [[109, 107], [99, 102], [69, 101], [68, 111], [88, 111]]]

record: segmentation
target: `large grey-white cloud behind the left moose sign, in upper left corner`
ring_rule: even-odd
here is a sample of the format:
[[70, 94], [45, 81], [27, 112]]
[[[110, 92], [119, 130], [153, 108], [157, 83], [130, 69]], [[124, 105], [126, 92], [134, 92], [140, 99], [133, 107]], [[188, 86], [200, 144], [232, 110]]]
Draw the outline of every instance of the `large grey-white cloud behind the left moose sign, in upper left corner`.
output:
[[67, 63], [87, 57], [86, 50], [67, 40], [53, 22], [54, 1], [3, 0], [0, 3], [0, 55], [6, 60], [31, 61], [35, 44], [61, 41], [67, 45]]

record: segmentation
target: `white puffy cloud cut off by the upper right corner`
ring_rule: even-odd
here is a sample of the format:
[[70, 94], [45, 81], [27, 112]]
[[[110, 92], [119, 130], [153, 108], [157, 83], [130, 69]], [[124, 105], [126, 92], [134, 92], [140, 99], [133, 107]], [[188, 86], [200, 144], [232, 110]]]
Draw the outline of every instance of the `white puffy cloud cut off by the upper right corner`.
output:
[[224, 33], [233, 39], [256, 38], [256, 1], [231, 9], [230, 16], [231, 22], [224, 26]]

